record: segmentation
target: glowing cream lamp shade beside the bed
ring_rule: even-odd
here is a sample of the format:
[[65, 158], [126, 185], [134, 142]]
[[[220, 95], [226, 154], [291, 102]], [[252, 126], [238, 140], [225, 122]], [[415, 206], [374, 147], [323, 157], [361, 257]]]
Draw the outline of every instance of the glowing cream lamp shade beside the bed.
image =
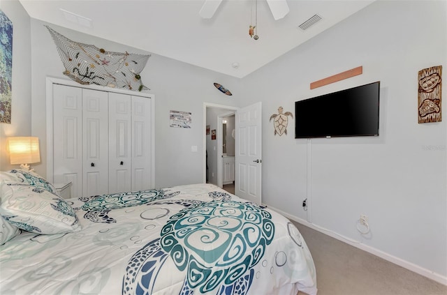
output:
[[11, 165], [41, 162], [38, 137], [8, 137]]

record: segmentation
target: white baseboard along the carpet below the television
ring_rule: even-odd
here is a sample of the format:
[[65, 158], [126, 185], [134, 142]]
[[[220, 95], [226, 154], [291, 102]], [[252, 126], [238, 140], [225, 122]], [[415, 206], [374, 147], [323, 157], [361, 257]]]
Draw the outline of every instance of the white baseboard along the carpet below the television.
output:
[[304, 220], [302, 218], [298, 218], [294, 215], [291, 215], [289, 213], [286, 213], [284, 211], [281, 211], [279, 209], [276, 209], [272, 206], [268, 206], [269, 209], [272, 209], [274, 211], [277, 211], [277, 213], [280, 213], [281, 215], [284, 215], [286, 218], [291, 219], [293, 221], [299, 222], [302, 225], [305, 225], [307, 227], [310, 227], [312, 229], [315, 229], [317, 232], [321, 232], [323, 234], [326, 234], [328, 236], [331, 236], [334, 239], [337, 239], [339, 241], [342, 241], [344, 243], [347, 243], [349, 245], [353, 245], [356, 248], [359, 248], [361, 250], [364, 250], [366, 252], [369, 252], [373, 255], [376, 255], [378, 257], [381, 257], [388, 262], [392, 262], [393, 264], [397, 264], [398, 266], [402, 266], [403, 268], [406, 268], [410, 271], [413, 271], [414, 273], [418, 273], [419, 275], [423, 275], [426, 278], [430, 278], [431, 280], [434, 280], [436, 282], [441, 283], [442, 285], [447, 285], [447, 277], [440, 275], [439, 273], [434, 273], [433, 271], [430, 271], [426, 268], [420, 267], [416, 264], [413, 264], [411, 262], [407, 262], [404, 259], [400, 259], [399, 257], [395, 257], [393, 255], [390, 255], [386, 252], [383, 252], [381, 250], [378, 250], [376, 248], [373, 248], [369, 245], [365, 245], [364, 243], [353, 243], [348, 237], [344, 237], [339, 234], [335, 234], [335, 232], [332, 232], [330, 229], [324, 229], [323, 227], [319, 227], [314, 225], [311, 222], [308, 222], [307, 220]]

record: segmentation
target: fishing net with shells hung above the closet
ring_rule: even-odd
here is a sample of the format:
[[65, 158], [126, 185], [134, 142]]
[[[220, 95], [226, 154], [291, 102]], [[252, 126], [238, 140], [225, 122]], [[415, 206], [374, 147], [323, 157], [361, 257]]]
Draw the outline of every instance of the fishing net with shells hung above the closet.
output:
[[80, 84], [97, 84], [133, 91], [148, 90], [140, 73], [149, 55], [108, 52], [94, 45], [78, 43], [45, 26], [56, 44], [64, 75]]

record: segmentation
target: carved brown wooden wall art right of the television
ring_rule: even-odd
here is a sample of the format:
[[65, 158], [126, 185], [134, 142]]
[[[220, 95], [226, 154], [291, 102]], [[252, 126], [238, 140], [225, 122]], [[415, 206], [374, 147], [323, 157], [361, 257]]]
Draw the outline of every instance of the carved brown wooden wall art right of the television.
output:
[[441, 74], [442, 66], [418, 73], [418, 123], [441, 121]]

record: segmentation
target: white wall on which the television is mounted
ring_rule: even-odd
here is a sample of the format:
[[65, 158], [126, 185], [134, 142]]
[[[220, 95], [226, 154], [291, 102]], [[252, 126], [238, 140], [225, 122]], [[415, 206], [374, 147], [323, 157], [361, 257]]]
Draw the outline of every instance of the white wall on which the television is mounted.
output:
[[[376, 1], [242, 80], [244, 103], [263, 102], [263, 202], [444, 283], [446, 107], [442, 122], [425, 124], [418, 124], [417, 108], [418, 71], [447, 69], [446, 16], [446, 1]], [[362, 75], [309, 90], [311, 82], [357, 66]], [[294, 120], [288, 135], [274, 136], [268, 118], [279, 106], [293, 112], [296, 100], [375, 81], [379, 137], [308, 145], [294, 139]], [[306, 197], [309, 211], [301, 206]], [[356, 229], [360, 214], [369, 216], [366, 237]]]

